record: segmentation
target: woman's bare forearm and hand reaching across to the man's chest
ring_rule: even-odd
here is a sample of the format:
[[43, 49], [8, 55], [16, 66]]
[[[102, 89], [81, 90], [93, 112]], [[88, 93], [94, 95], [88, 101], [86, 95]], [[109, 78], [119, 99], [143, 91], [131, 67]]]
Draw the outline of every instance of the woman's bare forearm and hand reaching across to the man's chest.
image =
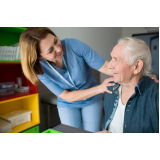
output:
[[107, 88], [108, 86], [114, 85], [114, 83], [110, 83], [112, 81], [113, 81], [113, 77], [104, 80], [104, 82], [102, 84], [100, 84], [99, 86], [92, 87], [89, 89], [76, 90], [76, 91], [64, 90], [59, 95], [59, 97], [68, 101], [68, 102], [74, 102], [74, 101], [84, 100], [84, 99], [93, 97], [97, 94], [104, 93], [104, 92], [108, 92], [108, 93], [112, 94], [112, 92], [109, 91]]

